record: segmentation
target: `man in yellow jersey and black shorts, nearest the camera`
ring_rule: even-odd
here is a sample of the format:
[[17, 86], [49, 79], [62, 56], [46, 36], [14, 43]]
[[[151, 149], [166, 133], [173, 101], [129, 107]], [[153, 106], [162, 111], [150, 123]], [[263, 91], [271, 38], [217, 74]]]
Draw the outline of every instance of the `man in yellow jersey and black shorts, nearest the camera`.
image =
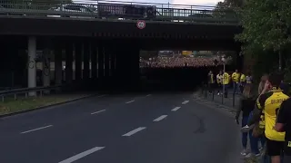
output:
[[[266, 135], [266, 155], [271, 157], [272, 163], [280, 163], [280, 155], [284, 149], [285, 132], [278, 132], [274, 129], [279, 108], [283, 101], [289, 98], [280, 88], [282, 76], [280, 74], [271, 74], [266, 81], [264, 90], [256, 101], [253, 119], [250, 120], [246, 128], [255, 121], [259, 120], [262, 111], [265, 114], [265, 135]], [[245, 127], [244, 127], [245, 128]]]

